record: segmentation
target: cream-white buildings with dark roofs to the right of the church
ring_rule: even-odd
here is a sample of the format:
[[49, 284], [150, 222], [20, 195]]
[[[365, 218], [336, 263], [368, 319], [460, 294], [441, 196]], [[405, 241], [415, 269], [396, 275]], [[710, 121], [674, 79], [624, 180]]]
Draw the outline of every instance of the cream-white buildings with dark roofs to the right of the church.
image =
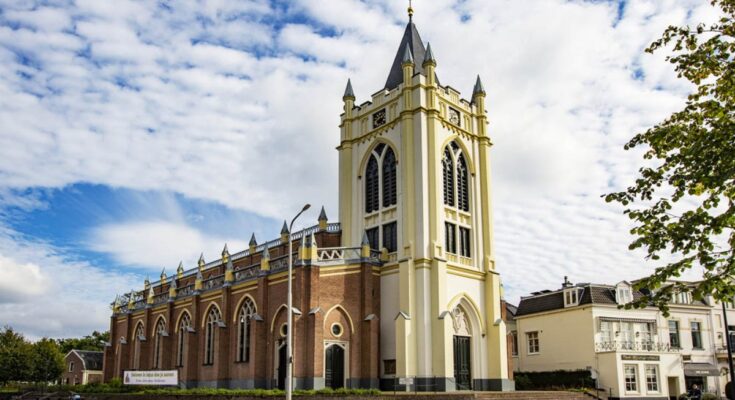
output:
[[[729, 372], [721, 308], [688, 293], [675, 296], [668, 317], [654, 307], [619, 308], [640, 296], [626, 281], [565, 279], [558, 290], [523, 297], [511, 333], [514, 369], [587, 369], [611, 399], [676, 398], [694, 384], [724, 396]], [[735, 310], [730, 314], [735, 331]]]

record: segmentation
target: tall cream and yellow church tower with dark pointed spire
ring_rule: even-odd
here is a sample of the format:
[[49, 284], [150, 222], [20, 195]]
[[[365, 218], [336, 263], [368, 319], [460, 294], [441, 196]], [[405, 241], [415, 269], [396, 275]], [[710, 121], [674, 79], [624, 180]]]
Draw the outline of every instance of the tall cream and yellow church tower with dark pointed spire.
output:
[[479, 76], [470, 100], [439, 83], [412, 14], [385, 86], [357, 105], [347, 82], [342, 244], [381, 252], [381, 388], [512, 390], [485, 90]]

